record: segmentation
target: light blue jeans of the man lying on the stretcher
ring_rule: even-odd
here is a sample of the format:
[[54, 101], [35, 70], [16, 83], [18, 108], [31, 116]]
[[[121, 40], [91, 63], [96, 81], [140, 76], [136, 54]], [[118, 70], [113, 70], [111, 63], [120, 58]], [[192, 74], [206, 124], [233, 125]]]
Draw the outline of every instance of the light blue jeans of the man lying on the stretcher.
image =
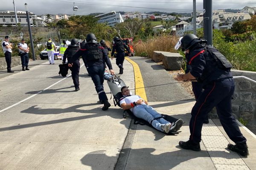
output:
[[[151, 123], [151, 121], [154, 118], [162, 116], [160, 113], [155, 111], [154, 108], [152, 108], [151, 106], [148, 106], [148, 105], [137, 105], [133, 108], [132, 112], [134, 113], [134, 116], [136, 116], [140, 119], [144, 119], [149, 123]], [[167, 120], [165, 120], [163, 118], [160, 118], [160, 119], [153, 120], [151, 125], [154, 128], [156, 128], [157, 130], [160, 130], [163, 132], [163, 130], [161, 129], [161, 126], [165, 125], [167, 123], [170, 123], [170, 122], [168, 122]]]

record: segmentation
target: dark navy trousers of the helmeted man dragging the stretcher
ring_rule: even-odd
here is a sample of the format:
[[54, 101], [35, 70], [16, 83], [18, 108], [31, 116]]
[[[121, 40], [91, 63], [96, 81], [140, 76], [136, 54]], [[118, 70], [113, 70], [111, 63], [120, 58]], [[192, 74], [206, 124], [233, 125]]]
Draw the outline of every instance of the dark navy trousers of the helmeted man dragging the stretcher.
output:
[[87, 69], [90, 74], [93, 83], [95, 85], [95, 89], [99, 95], [99, 100], [105, 101], [108, 100], [108, 97], [104, 91], [103, 82], [104, 82], [104, 65], [93, 65]]

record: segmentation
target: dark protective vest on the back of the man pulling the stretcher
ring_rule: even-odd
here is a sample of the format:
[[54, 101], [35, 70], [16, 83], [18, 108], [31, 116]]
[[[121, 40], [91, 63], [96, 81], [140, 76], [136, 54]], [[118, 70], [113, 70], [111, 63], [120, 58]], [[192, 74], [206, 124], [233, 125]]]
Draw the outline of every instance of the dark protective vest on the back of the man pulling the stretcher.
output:
[[88, 45], [85, 44], [85, 50], [86, 50], [86, 57], [85, 60], [86, 62], [90, 62], [93, 60], [99, 60], [103, 58], [103, 54], [101, 51], [101, 46], [99, 45]]

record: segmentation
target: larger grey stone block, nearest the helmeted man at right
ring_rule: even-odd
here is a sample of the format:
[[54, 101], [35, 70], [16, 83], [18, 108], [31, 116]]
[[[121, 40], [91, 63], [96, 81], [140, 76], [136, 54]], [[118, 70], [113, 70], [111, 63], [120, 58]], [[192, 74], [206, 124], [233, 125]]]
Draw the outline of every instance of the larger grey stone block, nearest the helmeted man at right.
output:
[[163, 57], [163, 68], [166, 70], [180, 70], [183, 56], [179, 53], [166, 52]]

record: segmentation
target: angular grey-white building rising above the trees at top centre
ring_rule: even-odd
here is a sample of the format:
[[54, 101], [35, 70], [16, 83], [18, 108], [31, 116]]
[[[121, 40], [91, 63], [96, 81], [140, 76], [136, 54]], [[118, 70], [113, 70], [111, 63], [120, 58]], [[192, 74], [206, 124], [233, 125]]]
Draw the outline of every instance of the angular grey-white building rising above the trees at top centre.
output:
[[116, 23], [124, 22], [120, 13], [116, 11], [107, 12], [105, 14], [96, 15], [95, 18], [98, 18], [99, 23], [106, 23], [108, 26], [114, 26]]

